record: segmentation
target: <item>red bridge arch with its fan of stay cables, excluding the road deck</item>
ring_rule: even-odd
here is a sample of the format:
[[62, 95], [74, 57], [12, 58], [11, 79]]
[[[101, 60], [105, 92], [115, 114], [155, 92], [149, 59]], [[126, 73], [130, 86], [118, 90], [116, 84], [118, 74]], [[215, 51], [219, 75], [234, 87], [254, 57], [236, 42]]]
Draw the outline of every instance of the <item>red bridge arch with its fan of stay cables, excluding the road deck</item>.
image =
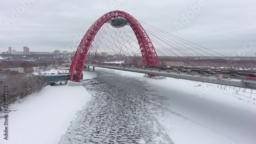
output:
[[[112, 20], [120, 17], [126, 18], [127, 24], [114, 27]], [[219, 60], [228, 63], [228, 57], [220, 56], [224, 55], [139, 22], [126, 12], [112, 11], [96, 20], [82, 38], [72, 61], [70, 79], [80, 82], [84, 63], [121, 61], [159, 69], [166, 65], [174, 68], [173, 64], [181, 67], [182, 62], [202, 71], [199, 65], [207, 67]]]

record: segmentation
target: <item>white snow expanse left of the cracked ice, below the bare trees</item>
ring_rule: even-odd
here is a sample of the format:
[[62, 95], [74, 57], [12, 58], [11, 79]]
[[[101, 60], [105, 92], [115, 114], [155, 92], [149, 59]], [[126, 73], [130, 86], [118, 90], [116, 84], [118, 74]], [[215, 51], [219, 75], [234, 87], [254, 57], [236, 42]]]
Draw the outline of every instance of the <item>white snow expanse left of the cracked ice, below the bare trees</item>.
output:
[[0, 119], [0, 143], [57, 143], [90, 98], [82, 86], [47, 86], [11, 106], [17, 111], [9, 113], [9, 140], [4, 139]]

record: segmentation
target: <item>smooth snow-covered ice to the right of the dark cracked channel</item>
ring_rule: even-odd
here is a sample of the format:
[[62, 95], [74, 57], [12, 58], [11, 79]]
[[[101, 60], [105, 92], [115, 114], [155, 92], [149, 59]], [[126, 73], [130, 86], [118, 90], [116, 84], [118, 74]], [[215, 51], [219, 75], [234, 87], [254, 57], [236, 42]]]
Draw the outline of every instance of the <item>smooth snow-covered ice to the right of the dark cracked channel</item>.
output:
[[97, 70], [145, 80], [151, 94], [166, 97], [171, 109], [156, 117], [176, 144], [254, 144], [256, 141], [255, 90], [168, 77], [157, 80], [126, 71]]

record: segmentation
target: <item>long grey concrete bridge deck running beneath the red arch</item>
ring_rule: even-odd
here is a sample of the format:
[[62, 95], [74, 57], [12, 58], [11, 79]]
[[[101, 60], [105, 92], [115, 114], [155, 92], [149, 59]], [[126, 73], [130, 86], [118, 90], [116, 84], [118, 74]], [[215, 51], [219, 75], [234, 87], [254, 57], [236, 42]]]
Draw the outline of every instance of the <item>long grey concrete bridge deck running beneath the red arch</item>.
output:
[[118, 66], [105, 66], [105, 65], [92, 65], [92, 64], [85, 64], [85, 65], [100, 67], [100, 68], [107, 68], [107, 69], [145, 73], [145, 74], [151, 74], [151, 75], [160, 75], [160, 76], [187, 79], [187, 80], [202, 81], [205, 83], [213, 83], [213, 84], [220, 84], [220, 85], [226, 85], [226, 86], [234, 86], [234, 87], [242, 87], [242, 88], [246, 87], [242, 79], [219, 79], [219, 78], [216, 78], [216, 76], [206, 77], [199, 74], [189, 75], [184, 73], [167, 72], [167, 71], [161, 71], [161, 70], [156, 71], [156, 70], [147, 70], [147, 69], [139, 69], [139, 68], [122, 68]]

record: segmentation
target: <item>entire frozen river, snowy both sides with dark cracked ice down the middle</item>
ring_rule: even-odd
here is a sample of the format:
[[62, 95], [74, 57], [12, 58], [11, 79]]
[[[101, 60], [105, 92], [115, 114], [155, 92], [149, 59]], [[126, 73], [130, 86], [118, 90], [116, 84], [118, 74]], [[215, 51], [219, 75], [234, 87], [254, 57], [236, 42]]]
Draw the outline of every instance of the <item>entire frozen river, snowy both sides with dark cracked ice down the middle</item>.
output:
[[47, 86], [11, 105], [10, 139], [0, 143], [256, 141], [255, 90], [100, 68], [83, 75], [83, 86]]

